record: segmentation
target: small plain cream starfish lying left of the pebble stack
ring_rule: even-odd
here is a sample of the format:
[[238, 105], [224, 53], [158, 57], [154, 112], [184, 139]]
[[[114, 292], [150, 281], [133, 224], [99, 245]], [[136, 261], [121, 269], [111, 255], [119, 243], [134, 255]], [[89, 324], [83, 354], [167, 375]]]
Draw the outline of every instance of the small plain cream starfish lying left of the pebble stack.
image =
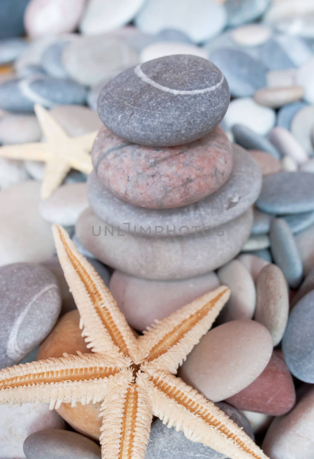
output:
[[46, 141], [2, 146], [0, 157], [45, 162], [41, 198], [46, 199], [61, 185], [71, 168], [91, 173], [90, 150], [97, 131], [70, 137], [43, 106], [35, 104], [34, 110]]

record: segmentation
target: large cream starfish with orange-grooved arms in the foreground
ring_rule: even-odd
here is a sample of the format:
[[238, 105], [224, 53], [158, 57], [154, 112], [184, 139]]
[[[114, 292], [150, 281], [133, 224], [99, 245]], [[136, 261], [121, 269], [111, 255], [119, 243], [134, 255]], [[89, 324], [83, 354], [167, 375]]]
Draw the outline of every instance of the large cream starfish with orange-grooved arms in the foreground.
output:
[[110, 291], [54, 225], [58, 257], [91, 354], [64, 354], [0, 371], [0, 403], [101, 402], [103, 459], [144, 459], [152, 415], [233, 459], [267, 459], [213, 402], [175, 376], [230, 296], [207, 293], [136, 338]]

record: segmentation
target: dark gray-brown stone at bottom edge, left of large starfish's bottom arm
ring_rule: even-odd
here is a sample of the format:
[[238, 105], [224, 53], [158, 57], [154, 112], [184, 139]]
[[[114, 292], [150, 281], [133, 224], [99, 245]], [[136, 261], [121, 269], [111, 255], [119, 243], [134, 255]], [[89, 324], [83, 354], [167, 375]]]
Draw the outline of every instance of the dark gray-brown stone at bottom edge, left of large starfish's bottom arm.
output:
[[[77, 432], [46, 429], [26, 438], [23, 451], [27, 459], [42, 459], [43, 453], [53, 453], [54, 459], [101, 459], [101, 448]], [[51, 457], [52, 459], [52, 457]]]

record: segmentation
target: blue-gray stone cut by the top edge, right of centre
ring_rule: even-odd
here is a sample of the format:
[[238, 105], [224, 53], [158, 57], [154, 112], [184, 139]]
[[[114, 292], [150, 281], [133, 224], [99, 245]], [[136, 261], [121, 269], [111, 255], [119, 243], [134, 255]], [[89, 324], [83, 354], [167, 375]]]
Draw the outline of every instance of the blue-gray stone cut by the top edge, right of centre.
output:
[[227, 10], [227, 25], [241, 26], [254, 21], [266, 11], [270, 0], [227, 0], [224, 6]]

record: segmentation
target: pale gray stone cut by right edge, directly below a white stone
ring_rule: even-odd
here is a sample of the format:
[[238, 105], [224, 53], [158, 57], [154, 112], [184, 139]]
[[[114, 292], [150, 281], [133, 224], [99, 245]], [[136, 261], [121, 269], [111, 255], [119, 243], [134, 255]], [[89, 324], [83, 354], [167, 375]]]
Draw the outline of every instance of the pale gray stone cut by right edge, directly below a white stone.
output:
[[314, 106], [309, 105], [298, 110], [291, 122], [291, 132], [309, 156], [314, 155], [311, 141], [313, 129]]

